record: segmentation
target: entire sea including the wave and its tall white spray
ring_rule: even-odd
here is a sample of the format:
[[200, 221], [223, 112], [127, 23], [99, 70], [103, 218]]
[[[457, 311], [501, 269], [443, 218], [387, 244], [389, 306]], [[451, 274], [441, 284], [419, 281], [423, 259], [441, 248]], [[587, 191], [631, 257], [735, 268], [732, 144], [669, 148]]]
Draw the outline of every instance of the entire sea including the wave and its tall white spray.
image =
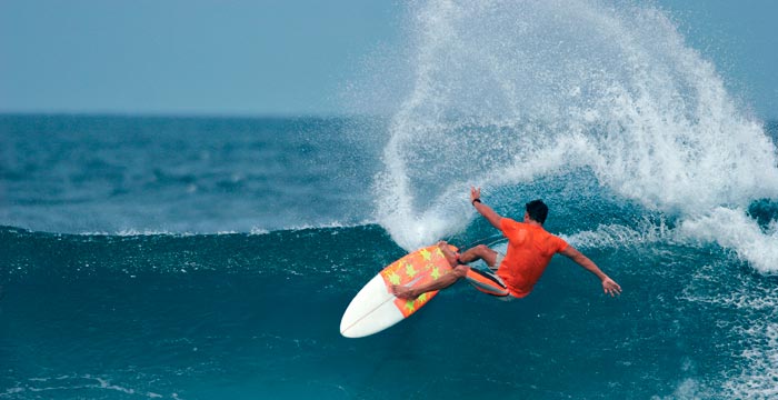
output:
[[[0, 399], [777, 397], [778, 126], [657, 9], [408, 12], [386, 117], [0, 116]], [[501, 244], [471, 184], [624, 294], [557, 258], [340, 337], [407, 251]]]

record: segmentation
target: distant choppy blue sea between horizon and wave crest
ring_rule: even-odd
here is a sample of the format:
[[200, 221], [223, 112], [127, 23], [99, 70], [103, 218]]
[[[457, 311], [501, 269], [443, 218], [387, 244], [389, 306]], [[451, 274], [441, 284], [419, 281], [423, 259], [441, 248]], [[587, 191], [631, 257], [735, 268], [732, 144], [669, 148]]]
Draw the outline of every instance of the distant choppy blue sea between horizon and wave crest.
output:
[[0, 218], [77, 233], [352, 224], [377, 150], [347, 123], [6, 116]]

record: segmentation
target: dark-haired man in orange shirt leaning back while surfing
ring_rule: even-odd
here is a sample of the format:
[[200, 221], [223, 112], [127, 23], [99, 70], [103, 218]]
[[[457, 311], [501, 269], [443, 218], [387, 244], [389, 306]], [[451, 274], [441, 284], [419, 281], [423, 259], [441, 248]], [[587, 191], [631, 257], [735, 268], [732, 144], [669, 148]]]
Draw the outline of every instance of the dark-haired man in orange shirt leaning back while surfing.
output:
[[[541, 200], [532, 200], [525, 207], [523, 222], [503, 218], [491, 207], [481, 201], [481, 189], [470, 188], [470, 203], [478, 213], [499, 229], [508, 238], [508, 250], [501, 254], [483, 244], [461, 253], [453, 252], [448, 243], [441, 241], [438, 247], [451, 264], [451, 272], [418, 288], [392, 286], [395, 296], [401, 299], [416, 299], [422, 293], [450, 287], [459, 279], [466, 278], [478, 290], [497, 297], [522, 298], [532, 291], [551, 258], [560, 253], [568, 257], [599, 278], [602, 291], [611, 297], [621, 293], [621, 287], [602, 272], [589, 258], [543, 229], [548, 206]], [[483, 260], [489, 271], [468, 266], [469, 262]]]

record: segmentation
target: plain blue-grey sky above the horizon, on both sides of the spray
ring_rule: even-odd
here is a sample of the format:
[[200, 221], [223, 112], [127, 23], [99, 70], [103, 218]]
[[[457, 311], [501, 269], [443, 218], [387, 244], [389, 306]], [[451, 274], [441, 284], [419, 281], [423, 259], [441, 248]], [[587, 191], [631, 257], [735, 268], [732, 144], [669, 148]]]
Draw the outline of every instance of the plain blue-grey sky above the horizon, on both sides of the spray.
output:
[[[778, 2], [660, 0], [734, 97], [778, 119]], [[396, 46], [401, 1], [0, 0], [0, 112], [327, 116]]]

